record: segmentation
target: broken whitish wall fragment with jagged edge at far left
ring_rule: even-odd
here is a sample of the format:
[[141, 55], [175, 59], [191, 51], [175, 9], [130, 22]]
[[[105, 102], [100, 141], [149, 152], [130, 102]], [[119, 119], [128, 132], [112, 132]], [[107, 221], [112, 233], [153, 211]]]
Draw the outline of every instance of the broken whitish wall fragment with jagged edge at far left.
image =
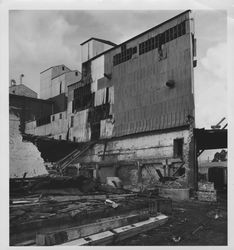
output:
[[19, 131], [19, 118], [10, 113], [10, 177], [22, 178], [24, 173], [26, 177], [34, 177], [47, 174], [44, 161], [37, 147], [31, 142], [22, 140]]

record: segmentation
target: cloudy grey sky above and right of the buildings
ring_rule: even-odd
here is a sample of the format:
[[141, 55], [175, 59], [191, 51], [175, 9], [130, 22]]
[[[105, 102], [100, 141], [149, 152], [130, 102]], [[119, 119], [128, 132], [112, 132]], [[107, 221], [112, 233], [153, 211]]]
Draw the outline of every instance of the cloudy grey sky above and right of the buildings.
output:
[[[182, 11], [10, 11], [10, 79], [39, 93], [40, 72], [59, 64], [81, 69], [80, 43], [90, 37], [116, 44]], [[225, 11], [193, 11], [196, 126], [210, 128], [226, 116]]]

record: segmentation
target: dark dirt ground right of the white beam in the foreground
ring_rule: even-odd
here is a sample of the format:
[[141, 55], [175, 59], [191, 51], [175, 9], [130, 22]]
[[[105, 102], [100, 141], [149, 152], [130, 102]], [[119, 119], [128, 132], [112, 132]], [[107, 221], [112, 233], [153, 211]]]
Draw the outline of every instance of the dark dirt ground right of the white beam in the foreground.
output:
[[227, 245], [227, 199], [218, 202], [173, 202], [168, 222], [159, 228], [120, 242], [121, 246]]

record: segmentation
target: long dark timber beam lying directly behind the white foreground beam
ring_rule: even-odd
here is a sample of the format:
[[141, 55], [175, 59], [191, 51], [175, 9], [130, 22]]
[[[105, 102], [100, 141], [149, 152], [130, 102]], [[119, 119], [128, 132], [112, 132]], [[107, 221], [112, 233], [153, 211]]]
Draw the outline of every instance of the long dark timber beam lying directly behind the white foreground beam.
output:
[[67, 241], [100, 233], [106, 230], [117, 228], [148, 218], [146, 211], [135, 213], [128, 216], [117, 216], [112, 218], [101, 219], [99, 222], [73, 227], [63, 230], [58, 230], [49, 233], [41, 233], [36, 235], [36, 245], [38, 246], [51, 246], [61, 244]]

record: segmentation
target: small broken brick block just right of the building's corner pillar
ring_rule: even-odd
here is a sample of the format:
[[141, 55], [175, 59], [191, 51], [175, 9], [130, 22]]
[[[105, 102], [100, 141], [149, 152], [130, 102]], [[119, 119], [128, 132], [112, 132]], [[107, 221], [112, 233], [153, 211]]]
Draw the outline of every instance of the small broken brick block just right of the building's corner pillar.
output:
[[198, 182], [197, 198], [199, 201], [217, 201], [213, 182]]

